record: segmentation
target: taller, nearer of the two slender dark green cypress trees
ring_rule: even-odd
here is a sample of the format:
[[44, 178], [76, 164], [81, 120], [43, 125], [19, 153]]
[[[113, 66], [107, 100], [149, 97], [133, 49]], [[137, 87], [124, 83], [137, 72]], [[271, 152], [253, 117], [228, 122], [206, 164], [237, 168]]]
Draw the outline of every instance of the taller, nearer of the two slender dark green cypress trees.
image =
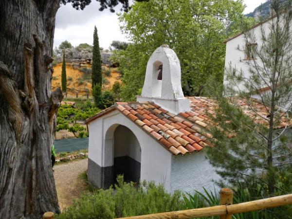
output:
[[92, 54], [92, 67], [91, 67], [91, 79], [92, 89], [97, 89], [96, 85], [99, 84], [101, 89], [102, 84], [102, 73], [101, 73], [101, 56], [99, 51], [99, 42], [97, 35], [97, 28], [94, 26], [93, 32], [93, 54]]

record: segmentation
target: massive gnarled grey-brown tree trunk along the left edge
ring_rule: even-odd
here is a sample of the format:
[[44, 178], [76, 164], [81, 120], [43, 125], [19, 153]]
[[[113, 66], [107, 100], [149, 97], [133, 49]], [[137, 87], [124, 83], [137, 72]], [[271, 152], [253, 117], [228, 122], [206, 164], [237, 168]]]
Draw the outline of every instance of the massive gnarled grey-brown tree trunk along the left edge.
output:
[[51, 93], [59, 0], [0, 0], [0, 219], [59, 212], [51, 166]]

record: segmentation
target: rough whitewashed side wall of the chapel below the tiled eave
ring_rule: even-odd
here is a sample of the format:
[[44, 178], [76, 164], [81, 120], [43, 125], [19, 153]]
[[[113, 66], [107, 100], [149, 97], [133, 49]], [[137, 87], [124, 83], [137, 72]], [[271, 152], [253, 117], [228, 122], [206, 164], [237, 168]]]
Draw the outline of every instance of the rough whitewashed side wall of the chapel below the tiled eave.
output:
[[206, 159], [205, 150], [184, 156], [173, 156], [171, 164], [171, 189], [193, 193], [195, 190], [204, 192], [203, 188], [214, 192], [219, 187], [214, 181], [220, 176]]

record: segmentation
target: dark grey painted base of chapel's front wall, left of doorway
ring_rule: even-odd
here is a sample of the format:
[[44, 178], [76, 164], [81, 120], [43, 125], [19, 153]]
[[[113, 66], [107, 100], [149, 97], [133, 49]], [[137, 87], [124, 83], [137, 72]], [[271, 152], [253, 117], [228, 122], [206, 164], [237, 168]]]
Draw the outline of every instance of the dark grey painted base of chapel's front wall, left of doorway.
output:
[[88, 158], [88, 181], [97, 188], [109, 188], [113, 184], [113, 166], [101, 167]]

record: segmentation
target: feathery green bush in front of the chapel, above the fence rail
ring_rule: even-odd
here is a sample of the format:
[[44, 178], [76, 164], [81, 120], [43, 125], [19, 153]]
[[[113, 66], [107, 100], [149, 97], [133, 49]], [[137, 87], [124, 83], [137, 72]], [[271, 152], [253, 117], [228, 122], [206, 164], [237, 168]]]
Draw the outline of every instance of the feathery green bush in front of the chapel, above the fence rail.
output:
[[136, 188], [123, 182], [107, 190], [97, 190], [81, 196], [56, 219], [112, 219], [183, 209], [181, 193], [168, 194], [163, 185], [143, 182]]

